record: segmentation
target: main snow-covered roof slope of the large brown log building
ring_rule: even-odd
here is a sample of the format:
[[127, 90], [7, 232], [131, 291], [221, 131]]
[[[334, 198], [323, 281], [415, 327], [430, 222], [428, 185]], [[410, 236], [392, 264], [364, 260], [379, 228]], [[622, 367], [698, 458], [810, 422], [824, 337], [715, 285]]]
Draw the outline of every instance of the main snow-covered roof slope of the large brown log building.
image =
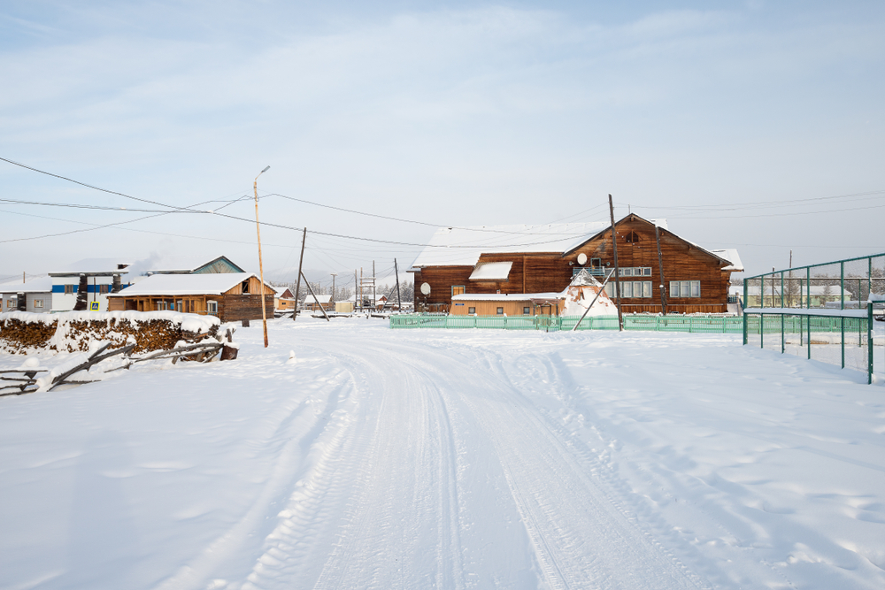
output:
[[[666, 219], [652, 223], [666, 229]], [[539, 226], [440, 227], [412, 268], [473, 266], [481, 254], [567, 252], [610, 227], [606, 221], [549, 223]]]

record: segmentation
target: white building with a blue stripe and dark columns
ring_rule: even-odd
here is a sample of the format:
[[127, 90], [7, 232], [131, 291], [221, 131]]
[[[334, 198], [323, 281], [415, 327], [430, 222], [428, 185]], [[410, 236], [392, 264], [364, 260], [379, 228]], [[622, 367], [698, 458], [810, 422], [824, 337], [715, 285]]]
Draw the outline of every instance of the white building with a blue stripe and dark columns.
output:
[[[67, 268], [50, 272], [52, 278], [52, 311], [108, 310], [107, 296], [126, 287], [123, 276], [128, 263], [112, 263], [104, 259], [81, 260]], [[45, 303], [44, 303], [45, 305]]]

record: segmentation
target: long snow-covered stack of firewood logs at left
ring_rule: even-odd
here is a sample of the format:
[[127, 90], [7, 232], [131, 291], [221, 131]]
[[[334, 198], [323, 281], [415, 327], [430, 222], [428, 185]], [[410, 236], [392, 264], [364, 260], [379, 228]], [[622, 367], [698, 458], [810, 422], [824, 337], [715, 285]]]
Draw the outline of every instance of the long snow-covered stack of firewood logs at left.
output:
[[96, 343], [109, 343], [109, 349], [135, 344], [135, 353], [170, 350], [180, 341], [215, 338], [220, 325], [219, 318], [213, 316], [175, 311], [13, 311], [0, 313], [0, 351], [78, 352], [90, 350]]

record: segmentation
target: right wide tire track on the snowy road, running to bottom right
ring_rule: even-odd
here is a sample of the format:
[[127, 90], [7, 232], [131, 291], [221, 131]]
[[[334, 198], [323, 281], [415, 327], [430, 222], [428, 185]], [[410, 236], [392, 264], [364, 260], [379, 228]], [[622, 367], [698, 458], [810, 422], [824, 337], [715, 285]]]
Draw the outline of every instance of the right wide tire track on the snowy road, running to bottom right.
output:
[[443, 362], [441, 355], [435, 356], [433, 365], [412, 362], [445, 382], [451, 392], [482, 392], [460, 397], [495, 446], [546, 585], [704, 587], [650, 539], [635, 518], [626, 516], [614, 495], [604, 489], [604, 481], [593, 477], [599, 464], [564, 442], [527, 402], [506, 378], [500, 355], [482, 353], [481, 358], [491, 374], [467, 371], [475, 359]]

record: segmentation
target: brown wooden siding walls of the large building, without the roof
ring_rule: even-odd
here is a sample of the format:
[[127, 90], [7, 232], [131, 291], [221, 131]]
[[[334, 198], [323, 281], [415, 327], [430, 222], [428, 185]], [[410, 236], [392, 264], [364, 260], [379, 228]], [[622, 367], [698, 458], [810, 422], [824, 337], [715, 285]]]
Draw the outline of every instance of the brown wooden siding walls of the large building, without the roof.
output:
[[[655, 228], [649, 222], [635, 216], [627, 216], [617, 224], [618, 264], [620, 267], [650, 266], [650, 277], [624, 280], [650, 280], [651, 297], [622, 298], [622, 310], [626, 313], [660, 313], [660, 272], [658, 270], [658, 247]], [[638, 238], [627, 241], [627, 236]], [[664, 261], [664, 280], [667, 290], [671, 280], [699, 280], [700, 297], [667, 296], [670, 313], [724, 313], [727, 311], [728, 280], [731, 272], [722, 271], [724, 265], [718, 258], [661, 230], [661, 253]], [[632, 236], [631, 236], [632, 237]], [[560, 253], [482, 254], [479, 262], [512, 261], [508, 280], [471, 281], [473, 266], [427, 266], [415, 272], [415, 307], [428, 304], [430, 310], [450, 310], [451, 286], [464, 285], [466, 293], [545, 293], [561, 292], [572, 280], [572, 271], [579, 254], [588, 259], [600, 258], [606, 271], [614, 266], [612, 255], [612, 232], [608, 230], [562, 257]], [[569, 264], [573, 263], [573, 264]], [[602, 282], [602, 278], [598, 278]], [[422, 282], [430, 284], [431, 292], [426, 298], [420, 294]]]

